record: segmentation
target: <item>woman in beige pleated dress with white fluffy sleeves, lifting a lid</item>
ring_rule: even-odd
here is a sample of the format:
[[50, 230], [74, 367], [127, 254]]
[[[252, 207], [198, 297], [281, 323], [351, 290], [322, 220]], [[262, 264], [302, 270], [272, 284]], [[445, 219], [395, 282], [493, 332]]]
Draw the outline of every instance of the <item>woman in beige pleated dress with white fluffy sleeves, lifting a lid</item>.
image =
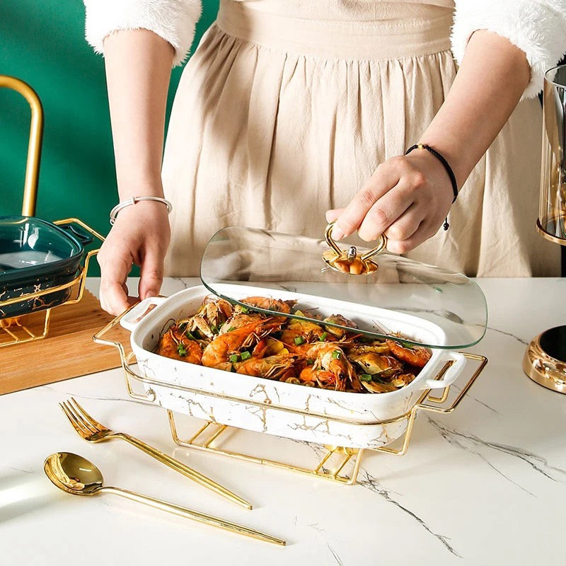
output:
[[[385, 233], [391, 252], [468, 275], [558, 275], [558, 246], [534, 227], [536, 94], [565, 51], [563, 0], [221, 0], [183, 71], [163, 164], [171, 65], [200, 3], [85, 4], [120, 200], [173, 203], [170, 217], [156, 200], [117, 214], [98, 255], [106, 310], [127, 307], [133, 264], [142, 299], [163, 272], [198, 275], [228, 225], [320, 237], [336, 220], [335, 238]], [[454, 204], [437, 156], [404, 155], [417, 143], [454, 171]]]

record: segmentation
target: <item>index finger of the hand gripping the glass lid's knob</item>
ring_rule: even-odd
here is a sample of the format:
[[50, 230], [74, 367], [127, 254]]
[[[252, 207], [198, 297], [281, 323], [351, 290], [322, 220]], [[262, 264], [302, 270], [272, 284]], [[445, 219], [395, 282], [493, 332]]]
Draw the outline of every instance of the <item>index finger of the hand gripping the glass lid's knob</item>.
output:
[[[398, 163], [397, 158], [392, 158], [378, 166], [368, 183], [357, 192], [344, 212], [337, 218], [332, 231], [335, 240], [350, 236], [356, 231], [375, 202], [397, 185], [400, 179]], [[374, 212], [378, 215], [381, 214], [379, 208]], [[380, 221], [380, 224], [383, 224], [383, 222]], [[360, 234], [360, 236], [362, 235]]]

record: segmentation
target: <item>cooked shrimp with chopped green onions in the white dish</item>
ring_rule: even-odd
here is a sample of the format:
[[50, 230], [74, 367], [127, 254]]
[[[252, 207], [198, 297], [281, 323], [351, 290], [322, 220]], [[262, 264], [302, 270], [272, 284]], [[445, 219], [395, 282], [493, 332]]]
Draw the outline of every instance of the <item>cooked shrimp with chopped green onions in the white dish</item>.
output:
[[293, 310], [295, 301], [253, 296], [240, 302], [246, 306], [207, 296], [193, 316], [169, 321], [156, 353], [236, 374], [356, 393], [403, 388], [431, 357], [426, 348], [408, 346], [399, 337], [366, 337], [339, 313], [318, 320], [309, 312], [311, 320], [302, 320], [286, 316], [305, 316]]

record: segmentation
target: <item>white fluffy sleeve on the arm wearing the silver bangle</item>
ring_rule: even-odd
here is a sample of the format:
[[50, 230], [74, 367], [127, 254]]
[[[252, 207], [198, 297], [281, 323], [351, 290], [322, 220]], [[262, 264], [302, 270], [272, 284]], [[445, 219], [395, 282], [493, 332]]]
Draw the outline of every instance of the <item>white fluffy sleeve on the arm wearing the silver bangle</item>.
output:
[[117, 30], [153, 31], [175, 48], [173, 67], [183, 62], [200, 18], [200, 0], [83, 0], [86, 40], [97, 53]]

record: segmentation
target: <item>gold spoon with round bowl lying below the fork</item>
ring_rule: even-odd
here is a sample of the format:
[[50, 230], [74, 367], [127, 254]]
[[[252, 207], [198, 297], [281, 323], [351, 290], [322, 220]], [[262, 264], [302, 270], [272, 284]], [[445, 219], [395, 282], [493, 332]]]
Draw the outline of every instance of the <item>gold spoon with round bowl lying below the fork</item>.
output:
[[156, 507], [156, 509], [161, 509], [162, 511], [168, 511], [189, 519], [194, 519], [200, 523], [217, 526], [221, 529], [226, 529], [226, 531], [257, 538], [259, 541], [282, 546], [286, 544], [281, 538], [255, 531], [255, 529], [249, 529], [246, 526], [238, 525], [231, 521], [220, 519], [219, 517], [200, 513], [192, 509], [187, 509], [187, 507], [181, 507], [180, 505], [161, 501], [161, 499], [155, 499], [147, 495], [139, 495], [139, 493], [122, 490], [120, 487], [105, 487], [103, 485], [104, 478], [100, 470], [93, 463], [86, 460], [86, 458], [78, 456], [77, 454], [71, 454], [70, 452], [51, 454], [47, 456], [43, 464], [43, 469], [45, 470], [47, 478], [49, 478], [54, 485], [59, 487], [60, 490], [73, 495], [96, 495], [100, 492], [114, 493], [115, 495], [121, 495], [127, 499]]

